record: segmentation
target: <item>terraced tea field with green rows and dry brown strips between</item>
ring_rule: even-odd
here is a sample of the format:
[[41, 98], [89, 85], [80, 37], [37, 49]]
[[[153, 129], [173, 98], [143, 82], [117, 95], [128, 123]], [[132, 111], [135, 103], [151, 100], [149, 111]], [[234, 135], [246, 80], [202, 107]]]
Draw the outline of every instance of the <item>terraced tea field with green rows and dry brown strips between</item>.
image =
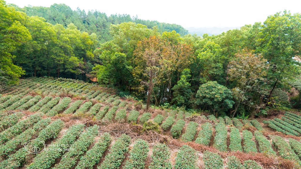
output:
[[20, 80], [0, 97], [0, 169], [268, 169], [301, 163], [301, 116], [295, 113], [262, 122], [143, 109], [81, 81]]

